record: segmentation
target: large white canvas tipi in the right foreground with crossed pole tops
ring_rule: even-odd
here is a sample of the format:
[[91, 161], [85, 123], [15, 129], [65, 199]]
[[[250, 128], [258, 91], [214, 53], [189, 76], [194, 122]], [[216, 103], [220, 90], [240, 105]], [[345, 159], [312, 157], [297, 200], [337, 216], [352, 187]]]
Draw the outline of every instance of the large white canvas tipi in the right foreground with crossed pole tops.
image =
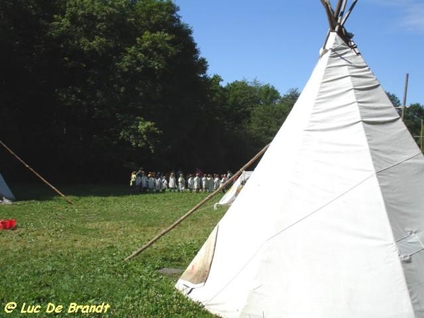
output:
[[228, 318], [423, 318], [423, 154], [343, 28], [346, 1], [322, 2], [310, 80], [176, 287]]

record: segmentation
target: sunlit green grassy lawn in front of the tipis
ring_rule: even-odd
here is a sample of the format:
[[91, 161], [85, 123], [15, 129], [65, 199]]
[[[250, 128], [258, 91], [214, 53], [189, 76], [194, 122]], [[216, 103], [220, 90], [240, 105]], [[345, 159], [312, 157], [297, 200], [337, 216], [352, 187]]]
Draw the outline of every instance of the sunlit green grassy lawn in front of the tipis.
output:
[[[0, 205], [0, 219], [17, 221], [16, 230], [0, 230], [0, 317], [214, 317], [175, 290], [178, 276], [158, 272], [187, 267], [223, 216], [223, 208], [213, 211], [214, 199], [124, 261], [206, 194], [132, 195], [116, 185], [58, 188], [75, 205], [43, 185], [14, 186], [19, 201]], [[17, 304], [11, 314], [5, 312], [8, 302]], [[110, 308], [68, 313], [72, 302]], [[46, 313], [49, 303], [63, 309]], [[40, 305], [40, 313], [20, 312], [30, 305]]]

